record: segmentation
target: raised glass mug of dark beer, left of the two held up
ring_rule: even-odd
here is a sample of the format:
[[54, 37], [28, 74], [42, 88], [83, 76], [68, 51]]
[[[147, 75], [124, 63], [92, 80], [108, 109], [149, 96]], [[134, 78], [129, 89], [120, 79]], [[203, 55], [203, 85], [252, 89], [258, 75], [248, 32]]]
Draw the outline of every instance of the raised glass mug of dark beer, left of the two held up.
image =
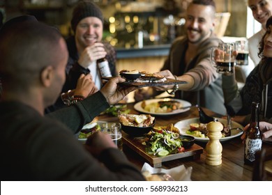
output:
[[232, 42], [222, 42], [218, 47], [211, 49], [211, 63], [215, 65], [218, 73], [223, 75], [234, 74], [235, 44]]

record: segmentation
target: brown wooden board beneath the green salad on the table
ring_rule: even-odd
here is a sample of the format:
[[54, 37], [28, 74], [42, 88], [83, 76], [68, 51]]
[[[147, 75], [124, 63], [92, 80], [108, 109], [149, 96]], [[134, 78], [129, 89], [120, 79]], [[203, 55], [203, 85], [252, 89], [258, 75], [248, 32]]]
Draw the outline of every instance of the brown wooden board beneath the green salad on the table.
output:
[[146, 146], [142, 145], [143, 139], [138, 137], [130, 137], [125, 132], [122, 132], [122, 134], [123, 144], [126, 144], [129, 148], [135, 150], [136, 153], [144, 157], [144, 159], [146, 159], [151, 165], [153, 165], [153, 167], [160, 167], [162, 166], [163, 162], [171, 161], [174, 159], [181, 159], [184, 157], [192, 156], [193, 159], [199, 159], [200, 155], [203, 153], [203, 148], [195, 143], [194, 145], [192, 145], [191, 148], [186, 149], [183, 153], [167, 155], [165, 157], [157, 157], [146, 153]]

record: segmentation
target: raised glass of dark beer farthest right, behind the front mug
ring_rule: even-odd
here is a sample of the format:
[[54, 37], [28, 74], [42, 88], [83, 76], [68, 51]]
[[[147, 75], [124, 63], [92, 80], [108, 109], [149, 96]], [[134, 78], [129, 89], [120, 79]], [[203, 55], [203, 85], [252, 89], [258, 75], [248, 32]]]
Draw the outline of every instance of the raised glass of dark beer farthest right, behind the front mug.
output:
[[238, 52], [236, 56], [236, 65], [248, 65], [248, 41], [236, 41], [235, 50]]

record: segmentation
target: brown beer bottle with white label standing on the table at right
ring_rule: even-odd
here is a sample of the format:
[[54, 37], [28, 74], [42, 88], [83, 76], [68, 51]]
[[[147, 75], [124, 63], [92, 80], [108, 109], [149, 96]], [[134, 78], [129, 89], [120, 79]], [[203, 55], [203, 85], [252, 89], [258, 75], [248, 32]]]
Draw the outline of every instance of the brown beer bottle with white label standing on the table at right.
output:
[[259, 130], [259, 103], [252, 102], [250, 127], [245, 138], [245, 164], [255, 162], [255, 153], [262, 149], [262, 132]]

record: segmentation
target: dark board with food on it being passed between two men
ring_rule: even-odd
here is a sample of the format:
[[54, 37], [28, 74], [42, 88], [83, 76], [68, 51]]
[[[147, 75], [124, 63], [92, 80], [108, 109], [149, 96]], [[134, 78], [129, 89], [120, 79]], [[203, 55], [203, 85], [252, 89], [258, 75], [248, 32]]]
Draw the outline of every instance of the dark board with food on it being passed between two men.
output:
[[[139, 72], [137, 70], [121, 70], [119, 74], [121, 75], [121, 77], [126, 79], [126, 81], [121, 83], [122, 85], [135, 86], [137, 88], [142, 88], [146, 86], [165, 86], [187, 83], [186, 81], [168, 79], [158, 73]], [[112, 77], [103, 77], [102, 79], [109, 80], [111, 78]]]

